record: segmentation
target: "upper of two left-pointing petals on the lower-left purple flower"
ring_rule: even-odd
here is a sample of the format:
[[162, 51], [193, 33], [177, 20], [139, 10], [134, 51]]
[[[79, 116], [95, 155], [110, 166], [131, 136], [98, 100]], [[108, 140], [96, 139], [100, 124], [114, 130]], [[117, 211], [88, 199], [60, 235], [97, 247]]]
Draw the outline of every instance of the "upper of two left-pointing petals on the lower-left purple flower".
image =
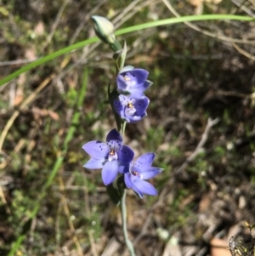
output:
[[93, 140], [82, 145], [82, 149], [94, 159], [105, 159], [110, 152], [109, 147], [99, 140]]

